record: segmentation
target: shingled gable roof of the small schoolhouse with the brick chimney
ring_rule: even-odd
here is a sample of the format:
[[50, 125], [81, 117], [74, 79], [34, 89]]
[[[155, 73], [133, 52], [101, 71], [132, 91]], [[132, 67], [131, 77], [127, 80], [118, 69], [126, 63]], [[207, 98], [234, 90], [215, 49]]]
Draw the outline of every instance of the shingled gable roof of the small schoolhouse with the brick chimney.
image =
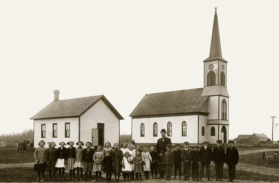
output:
[[30, 119], [46, 119], [46, 118], [61, 118], [61, 117], [74, 117], [81, 116], [88, 109], [90, 109], [95, 103], [102, 100], [110, 110], [117, 116], [117, 118], [124, 119], [117, 110], [111, 105], [108, 99], [103, 95], [73, 98], [67, 100], [53, 101], [46, 107], [44, 107], [37, 114]]

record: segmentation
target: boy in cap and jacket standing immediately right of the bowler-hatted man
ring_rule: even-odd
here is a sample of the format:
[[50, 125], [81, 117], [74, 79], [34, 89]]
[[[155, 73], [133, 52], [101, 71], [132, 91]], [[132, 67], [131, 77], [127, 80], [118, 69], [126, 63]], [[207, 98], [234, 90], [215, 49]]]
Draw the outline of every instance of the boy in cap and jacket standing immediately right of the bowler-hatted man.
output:
[[171, 170], [174, 165], [174, 152], [171, 151], [171, 144], [167, 144], [167, 151], [164, 154], [164, 164], [166, 165], [166, 180], [171, 180]]

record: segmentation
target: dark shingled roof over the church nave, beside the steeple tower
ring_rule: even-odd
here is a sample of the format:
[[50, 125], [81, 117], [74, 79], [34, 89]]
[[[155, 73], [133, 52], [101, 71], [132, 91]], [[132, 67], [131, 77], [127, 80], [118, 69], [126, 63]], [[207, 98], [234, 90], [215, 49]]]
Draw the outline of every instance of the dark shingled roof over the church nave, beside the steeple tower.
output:
[[203, 88], [146, 94], [130, 116], [205, 112], [208, 96], [201, 96]]

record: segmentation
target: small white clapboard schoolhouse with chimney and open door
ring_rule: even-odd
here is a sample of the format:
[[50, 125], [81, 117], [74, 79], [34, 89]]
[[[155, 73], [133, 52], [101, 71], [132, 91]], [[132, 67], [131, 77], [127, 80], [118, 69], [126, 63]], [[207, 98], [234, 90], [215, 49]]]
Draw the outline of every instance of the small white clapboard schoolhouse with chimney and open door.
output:
[[104, 146], [106, 141], [119, 143], [124, 118], [104, 95], [59, 100], [59, 91], [54, 90], [54, 100], [30, 119], [34, 120], [35, 145], [40, 140], [57, 145], [71, 140]]

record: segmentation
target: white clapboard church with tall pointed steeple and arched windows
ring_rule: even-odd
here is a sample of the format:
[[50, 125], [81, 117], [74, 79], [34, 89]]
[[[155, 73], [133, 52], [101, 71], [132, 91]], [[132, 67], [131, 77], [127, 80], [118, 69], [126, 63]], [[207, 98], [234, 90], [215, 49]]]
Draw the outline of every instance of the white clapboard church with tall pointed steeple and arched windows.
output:
[[197, 144], [204, 139], [228, 143], [227, 61], [221, 54], [216, 10], [210, 54], [203, 62], [202, 88], [146, 94], [142, 98], [130, 114], [132, 139], [136, 143], [156, 143], [163, 128], [172, 143]]

